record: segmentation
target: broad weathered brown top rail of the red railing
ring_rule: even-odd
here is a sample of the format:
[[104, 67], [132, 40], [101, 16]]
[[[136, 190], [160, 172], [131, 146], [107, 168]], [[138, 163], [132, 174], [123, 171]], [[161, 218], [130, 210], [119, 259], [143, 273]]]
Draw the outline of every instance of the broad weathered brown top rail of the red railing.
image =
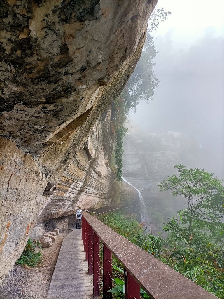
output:
[[[89, 236], [89, 226], [93, 229], [94, 234], [102, 241], [104, 248], [108, 250], [119, 260], [127, 271], [128, 275], [133, 278], [145, 292], [153, 299], [214, 299], [216, 296], [207, 292], [188, 278], [179, 274], [174, 269], [162, 263], [156, 257], [139, 248], [134, 243], [125, 239], [120, 234], [113, 231], [99, 219], [91, 216], [87, 212], [82, 212], [84, 225], [82, 225], [82, 239], [87, 241]], [[88, 227], [88, 228], [87, 228]], [[93, 246], [94, 252], [94, 246]], [[89, 263], [93, 260], [89, 257]], [[108, 267], [108, 266], [107, 266]], [[106, 268], [107, 269], [107, 268]], [[108, 271], [108, 270], [107, 270]], [[93, 267], [94, 280], [94, 267]], [[127, 279], [126, 279], [127, 281]], [[107, 281], [108, 283], [108, 281]], [[131, 283], [129, 283], [131, 285]], [[126, 288], [127, 289], [127, 288]], [[105, 298], [111, 298], [111, 293]], [[94, 294], [96, 295], [96, 294]], [[128, 292], [128, 299], [134, 299], [136, 295], [131, 296]], [[126, 295], [125, 295], [126, 298]], [[140, 294], [139, 294], [140, 298]]]

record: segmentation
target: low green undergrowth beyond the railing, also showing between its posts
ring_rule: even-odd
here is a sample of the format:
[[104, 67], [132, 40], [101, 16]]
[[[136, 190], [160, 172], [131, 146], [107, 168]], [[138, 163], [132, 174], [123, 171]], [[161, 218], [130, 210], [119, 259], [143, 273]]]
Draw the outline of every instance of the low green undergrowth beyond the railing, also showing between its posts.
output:
[[[208, 292], [224, 299], [224, 251], [218, 244], [209, 241], [208, 235], [195, 230], [189, 237], [188, 226], [183, 214], [187, 209], [179, 211], [176, 217], [165, 223], [167, 239], [145, 234], [142, 225], [134, 218], [126, 219], [117, 213], [99, 216], [99, 219], [114, 231], [131, 242], [154, 255], [180, 274], [197, 283]], [[124, 298], [124, 271], [116, 258], [112, 258], [114, 285], [111, 292], [116, 298]], [[117, 278], [115, 280], [115, 278]], [[141, 289], [141, 297], [149, 298]]]

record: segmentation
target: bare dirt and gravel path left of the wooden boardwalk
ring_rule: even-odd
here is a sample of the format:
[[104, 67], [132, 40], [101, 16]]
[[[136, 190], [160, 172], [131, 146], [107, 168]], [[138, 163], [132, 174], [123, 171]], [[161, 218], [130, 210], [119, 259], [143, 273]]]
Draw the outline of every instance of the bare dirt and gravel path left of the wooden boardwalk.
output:
[[42, 248], [42, 263], [37, 268], [14, 266], [13, 280], [0, 287], [0, 299], [46, 299], [62, 241], [68, 233], [59, 234], [52, 248]]

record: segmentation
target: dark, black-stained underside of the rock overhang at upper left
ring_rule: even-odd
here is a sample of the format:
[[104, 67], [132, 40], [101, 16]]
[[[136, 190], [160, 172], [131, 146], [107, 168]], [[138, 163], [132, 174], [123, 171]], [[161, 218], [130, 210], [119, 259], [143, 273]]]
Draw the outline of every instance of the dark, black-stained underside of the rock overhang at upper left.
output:
[[[155, 3], [5, 1], [2, 135], [37, 155], [85, 123], [96, 108], [102, 112], [110, 102], [106, 86], [127, 68]], [[89, 118], [85, 129], [93, 125]]]

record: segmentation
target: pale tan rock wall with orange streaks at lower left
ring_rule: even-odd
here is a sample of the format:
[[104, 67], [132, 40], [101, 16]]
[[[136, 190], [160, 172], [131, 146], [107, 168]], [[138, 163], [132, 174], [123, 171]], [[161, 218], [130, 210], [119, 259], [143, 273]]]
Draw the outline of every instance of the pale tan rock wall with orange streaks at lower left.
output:
[[0, 277], [4, 279], [35, 225], [47, 178], [11, 140], [0, 138], [0, 161]]

